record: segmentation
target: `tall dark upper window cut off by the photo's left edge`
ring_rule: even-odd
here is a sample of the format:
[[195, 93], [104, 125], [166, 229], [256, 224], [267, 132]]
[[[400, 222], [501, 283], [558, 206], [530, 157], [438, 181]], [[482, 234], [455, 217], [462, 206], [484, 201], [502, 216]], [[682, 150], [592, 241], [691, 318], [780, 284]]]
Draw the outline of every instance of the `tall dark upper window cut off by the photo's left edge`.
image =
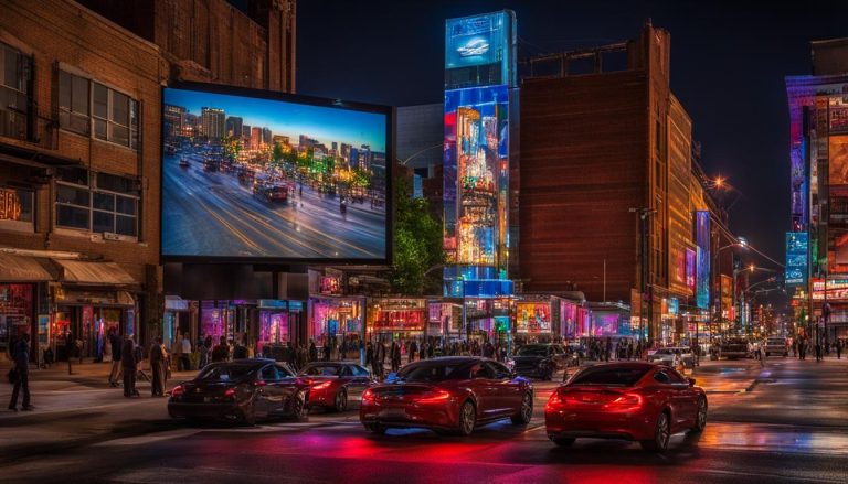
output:
[[32, 58], [0, 43], [0, 136], [28, 139]]

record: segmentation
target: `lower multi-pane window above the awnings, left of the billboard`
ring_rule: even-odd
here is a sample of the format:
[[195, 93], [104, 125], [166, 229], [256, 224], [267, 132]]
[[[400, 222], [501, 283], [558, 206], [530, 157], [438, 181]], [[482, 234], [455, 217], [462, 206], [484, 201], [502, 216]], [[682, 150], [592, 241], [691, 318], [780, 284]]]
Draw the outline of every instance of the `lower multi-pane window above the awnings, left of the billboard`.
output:
[[138, 237], [136, 180], [83, 169], [56, 173], [56, 225]]

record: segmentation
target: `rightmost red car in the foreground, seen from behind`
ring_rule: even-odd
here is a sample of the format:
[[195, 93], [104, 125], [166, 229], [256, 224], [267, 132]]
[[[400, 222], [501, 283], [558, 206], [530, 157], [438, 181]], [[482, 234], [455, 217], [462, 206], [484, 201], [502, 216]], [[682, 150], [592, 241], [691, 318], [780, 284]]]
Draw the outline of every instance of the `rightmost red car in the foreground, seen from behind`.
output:
[[627, 439], [664, 451], [678, 432], [707, 426], [707, 395], [653, 363], [611, 363], [583, 369], [560, 386], [544, 407], [548, 438], [568, 447], [576, 438]]

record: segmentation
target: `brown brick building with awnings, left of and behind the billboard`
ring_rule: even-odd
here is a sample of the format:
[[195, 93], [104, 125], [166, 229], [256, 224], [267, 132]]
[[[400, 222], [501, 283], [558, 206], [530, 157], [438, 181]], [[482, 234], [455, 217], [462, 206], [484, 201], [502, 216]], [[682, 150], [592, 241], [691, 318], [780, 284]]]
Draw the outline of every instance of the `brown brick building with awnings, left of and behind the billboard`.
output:
[[[159, 331], [161, 87], [292, 90], [294, 1], [10, 0], [0, 17], [0, 349]], [[2, 357], [2, 356], [0, 356]]]

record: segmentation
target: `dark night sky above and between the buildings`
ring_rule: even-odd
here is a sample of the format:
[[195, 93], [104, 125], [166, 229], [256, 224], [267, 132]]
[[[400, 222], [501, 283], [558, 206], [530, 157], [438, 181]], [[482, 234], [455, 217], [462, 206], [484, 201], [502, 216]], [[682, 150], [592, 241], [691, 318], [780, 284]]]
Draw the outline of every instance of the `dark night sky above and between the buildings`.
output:
[[[784, 259], [784, 76], [810, 73], [809, 41], [848, 36], [848, 1], [305, 0], [297, 92], [393, 106], [441, 103], [445, 19], [504, 8], [518, 19], [519, 57], [634, 39], [647, 18], [668, 30], [671, 89], [692, 118], [703, 168], [742, 194], [731, 228]], [[736, 193], [725, 197], [732, 204]]]

